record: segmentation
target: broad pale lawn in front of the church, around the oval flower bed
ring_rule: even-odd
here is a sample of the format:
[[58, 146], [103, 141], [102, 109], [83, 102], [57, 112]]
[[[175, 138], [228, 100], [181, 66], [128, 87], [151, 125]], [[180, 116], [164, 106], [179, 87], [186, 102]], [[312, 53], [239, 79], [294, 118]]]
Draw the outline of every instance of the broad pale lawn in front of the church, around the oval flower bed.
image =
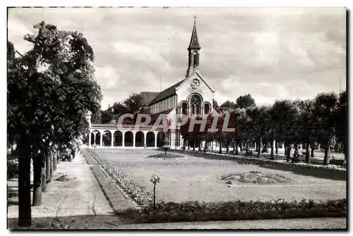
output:
[[[156, 194], [164, 201], [256, 201], [285, 199], [342, 199], [346, 197], [346, 182], [342, 178], [325, 178], [301, 174], [297, 168], [276, 169], [256, 165], [240, 165], [237, 161], [203, 158], [182, 154], [181, 159], [148, 159], [161, 151], [151, 149], [96, 149], [103, 158], [114, 161], [116, 168], [126, 173], [133, 182], [148, 188], [152, 173], [161, 177]], [[254, 183], [226, 184], [220, 176], [228, 173], [260, 171], [289, 178], [289, 184], [260, 185]], [[306, 172], [316, 170], [303, 170]]]

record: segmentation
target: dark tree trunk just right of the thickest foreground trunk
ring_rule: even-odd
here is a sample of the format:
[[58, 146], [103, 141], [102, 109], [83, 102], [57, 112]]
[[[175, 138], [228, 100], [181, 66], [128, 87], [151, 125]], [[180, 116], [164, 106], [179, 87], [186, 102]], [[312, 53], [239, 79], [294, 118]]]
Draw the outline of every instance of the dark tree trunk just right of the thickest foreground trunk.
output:
[[32, 206], [42, 205], [42, 160], [37, 155], [33, 158], [33, 201]]

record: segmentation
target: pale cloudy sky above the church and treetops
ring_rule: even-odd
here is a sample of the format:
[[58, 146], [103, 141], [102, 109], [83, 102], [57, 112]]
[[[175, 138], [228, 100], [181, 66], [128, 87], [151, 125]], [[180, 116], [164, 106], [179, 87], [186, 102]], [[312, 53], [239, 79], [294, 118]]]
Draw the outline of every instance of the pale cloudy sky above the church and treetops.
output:
[[23, 35], [42, 20], [82, 32], [107, 108], [131, 92], [159, 92], [160, 77], [162, 89], [184, 79], [194, 15], [201, 72], [219, 104], [346, 87], [345, 8], [11, 8], [8, 39], [25, 53]]

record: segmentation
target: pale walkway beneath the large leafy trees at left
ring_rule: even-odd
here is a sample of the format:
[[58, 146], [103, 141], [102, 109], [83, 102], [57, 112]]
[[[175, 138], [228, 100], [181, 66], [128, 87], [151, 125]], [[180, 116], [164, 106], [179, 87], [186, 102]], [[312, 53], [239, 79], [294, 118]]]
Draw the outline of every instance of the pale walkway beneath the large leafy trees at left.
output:
[[[75, 179], [55, 180], [61, 175]], [[18, 218], [17, 180], [8, 180], [8, 192], [13, 196], [8, 199], [8, 218]], [[80, 154], [72, 162], [59, 163], [47, 192], [42, 193], [42, 206], [32, 206], [32, 218], [109, 214], [113, 214], [113, 210]]]

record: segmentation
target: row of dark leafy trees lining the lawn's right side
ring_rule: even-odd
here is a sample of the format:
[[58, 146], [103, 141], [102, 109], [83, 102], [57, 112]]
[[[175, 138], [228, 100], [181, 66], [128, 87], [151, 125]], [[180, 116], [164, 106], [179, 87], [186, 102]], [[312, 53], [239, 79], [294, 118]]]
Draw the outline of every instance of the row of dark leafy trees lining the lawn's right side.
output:
[[[256, 106], [251, 96], [246, 95], [246, 107], [227, 101], [222, 106], [224, 113], [220, 113], [217, 122], [217, 132], [208, 132], [213, 123], [213, 116], [207, 117], [206, 129], [200, 132], [201, 125], [195, 125], [193, 132], [189, 132], [190, 120], [181, 127], [181, 135], [191, 142], [193, 146], [200, 148], [202, 141], [207, 144], [216, 140], [226, 142], [227, 152], [229, 144], [234, 144], [237, 153], [238, 145], [245, 143], [246, 151], [249, 151], [249, 142], [256, 142], [257, 147], [270, 142], [270, 158], [274, 158], [274, 149], [277, 153], [277, 144], [285, 144], [287, 161], [291, 159], [291, 149], [294, 147], [294, 156], [298, 156], [299, 144], [306, 144], [306, 163], [317, 144], [325, 150], [323, 164], [327, 165], [330, 159], [330, 149], [336, 142], [343, 143], [345, 158], [347, 158], [347, 93], [322, 93], [315, 99], [308, 100], [277, 100], [273, 105]], [[243, 97], [244, 98], [244, 97]], [[242, 99], [243, 101], [245, 99]], [[229, 107], [230, 106], [230, 107]], [[225, 114], [229, 113], [229, 128], [234, 132], [222, 132], [225, 123]], [[199, 118], [201, 119], [201, 117]], [[273, 143], [275, 142], [275, 147]], [[185, 145], [185, 143], [184, 143]], [[220, 145], [220, 153], [222, 153]], [[311, 147], [311, 152], [309, 151]], [[266, 147], [267, 148], [267, 147]], [[258, 157], [261, 156], [258, 149]], [[298, 160], [296, 160], [298, 161]]]

